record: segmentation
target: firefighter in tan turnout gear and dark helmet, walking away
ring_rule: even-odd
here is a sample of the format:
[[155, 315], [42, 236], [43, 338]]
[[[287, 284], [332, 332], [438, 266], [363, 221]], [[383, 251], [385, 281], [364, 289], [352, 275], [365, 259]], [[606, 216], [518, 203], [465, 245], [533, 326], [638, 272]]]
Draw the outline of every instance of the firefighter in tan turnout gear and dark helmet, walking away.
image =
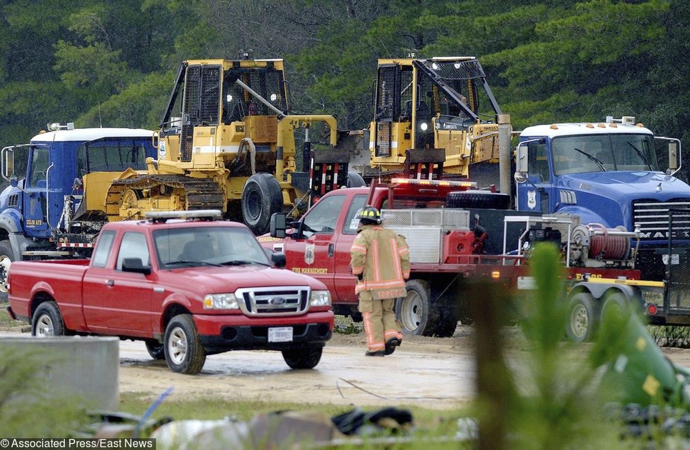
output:
[[393, 303], [406, 296], [410, 252], [403, 236], [381, 226], [381, 213], [375, 207], [365, 207], [357, 218], [359, 229], [350, 256], [352, 273], [357, 276], [359, 312], [364, 318], [366, 356], [390, 355], [402, 343]]

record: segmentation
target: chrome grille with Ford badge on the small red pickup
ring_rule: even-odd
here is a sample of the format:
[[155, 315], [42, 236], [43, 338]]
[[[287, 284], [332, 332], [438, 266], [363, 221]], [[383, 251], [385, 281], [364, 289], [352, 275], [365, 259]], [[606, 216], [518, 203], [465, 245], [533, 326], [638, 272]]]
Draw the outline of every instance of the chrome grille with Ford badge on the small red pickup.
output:
[[249, 287], [237, 289], [235, 296], [248, 316], [296, 316], [309, 308], [308, 286]]

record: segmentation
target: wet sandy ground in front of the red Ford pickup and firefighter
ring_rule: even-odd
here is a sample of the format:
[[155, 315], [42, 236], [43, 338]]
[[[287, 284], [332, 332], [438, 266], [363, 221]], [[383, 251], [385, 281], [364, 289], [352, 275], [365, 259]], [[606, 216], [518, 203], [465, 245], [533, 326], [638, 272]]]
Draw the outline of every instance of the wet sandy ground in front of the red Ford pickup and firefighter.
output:
[[201, 374], [173, 374], [141, 342], [120, 345], [120, 392], [214, 396], [335, 405], [456, 407], [473, 395], [474, 363], [462, 336], [406, 339], [395, 354], [364, 356], [364, 336], [336, 334], [312, 370], [290, 370], [279, 352], [233, 351], [209, 356]]

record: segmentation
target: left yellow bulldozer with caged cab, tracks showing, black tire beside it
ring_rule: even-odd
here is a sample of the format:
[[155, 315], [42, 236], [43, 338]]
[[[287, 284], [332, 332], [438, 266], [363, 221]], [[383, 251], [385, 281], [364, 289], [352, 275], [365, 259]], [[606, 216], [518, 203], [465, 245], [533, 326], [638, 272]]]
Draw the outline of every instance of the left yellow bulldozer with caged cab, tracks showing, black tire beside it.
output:
[[[308, 131], [316, 124], [325, 124], [328, 143], [311, 151]], [[300, 128], [304, 145], [297, 154]], [[289, 113], [282, 59], [241, 52], [237, 60], [184, 61], [153, 139], [158, 157], [147, 158], [146, 172], [128, 170], [110, 185], [108, 220], [221, 209], [262, 234], [274, 212], [296, 214], [313, 196], [364, 184], [348, 173], [348, 154], [336, 149], [333, 116]]]

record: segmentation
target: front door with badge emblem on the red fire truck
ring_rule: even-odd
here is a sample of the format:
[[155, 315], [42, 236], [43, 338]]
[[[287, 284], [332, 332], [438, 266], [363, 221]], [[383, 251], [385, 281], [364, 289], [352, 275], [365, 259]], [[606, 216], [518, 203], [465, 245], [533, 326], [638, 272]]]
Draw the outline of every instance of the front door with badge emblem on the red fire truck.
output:
[[335, 230], [345, 198], [342, 194], [319, 200], [302, 218], [302, 236], [287, 238], [283, 249], [290, 269], [322, 281], [332, 296], [335, 296]]

